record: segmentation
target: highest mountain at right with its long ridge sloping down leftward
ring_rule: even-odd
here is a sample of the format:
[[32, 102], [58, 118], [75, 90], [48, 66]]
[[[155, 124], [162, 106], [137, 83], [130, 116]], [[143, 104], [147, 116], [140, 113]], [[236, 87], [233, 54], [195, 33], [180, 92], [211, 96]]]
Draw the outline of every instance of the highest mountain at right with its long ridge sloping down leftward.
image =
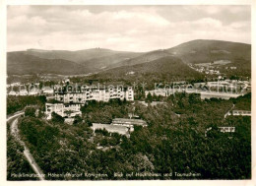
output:
[[185, 63], [192, 64], [229, 60], [231, 62], [230, 65], [235, 65], [243, 69], [239, 64], [237, 65], [236, 62], [238, 60], [248, 69], [250, 68], [251, 45], [222, 40], [198, 39], [182, 43], [172, 48], [147, 52], [138, 57], [110, 65], [108, 68], [151, 62], [166, 56], [175, 56], [182, 59]]

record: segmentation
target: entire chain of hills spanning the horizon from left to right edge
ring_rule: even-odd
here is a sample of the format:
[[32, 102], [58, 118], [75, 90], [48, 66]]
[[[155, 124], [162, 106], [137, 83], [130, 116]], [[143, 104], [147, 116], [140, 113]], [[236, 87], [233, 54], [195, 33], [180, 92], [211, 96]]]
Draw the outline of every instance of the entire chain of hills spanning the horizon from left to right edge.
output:
[[[228, 60], [229, 66], [237, 67], [237, 76], [243, 75], [244, 72], [248, 75], [251, 71], [251, 45], [222, 40], [192, 40], [172, 48], [144, 53], [101, 48], [78, 51], [29, 49], [27, 51], [8, 52], [7, 56], [8, 75], [37, 73], [77, 75], [144, 63], [149, 63], [149, 66], [153, 67], [152, 64], [156, 63], [156, 60], [162, 60], [164, 57], [176, 57], [186, 64]], [[146, 69], [142, 69], [142, 67]], [[142, 73], [150, 71], [146, 65], [134, 66], [130, 69], [134, 68], [142, 70]], [[156, 71], [159, 72], [159, 69], [160, 67], [157, 67]], [[176, 71], [170, 68], [166, 69], [170, 70], [169, 73], [176, 74]], [[185, 71], [187, 71], [186, 69]], [[117, 70], [120, 71], [120, 69]]]

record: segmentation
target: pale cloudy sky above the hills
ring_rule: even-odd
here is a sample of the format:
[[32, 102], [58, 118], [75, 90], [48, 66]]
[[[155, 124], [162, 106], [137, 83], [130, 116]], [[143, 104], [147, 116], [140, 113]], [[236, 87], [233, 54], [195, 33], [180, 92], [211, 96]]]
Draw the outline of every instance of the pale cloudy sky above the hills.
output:
[[7, 50], [151, 51], [194, 39], [251, 43], [250, 6], [17, 6]]

